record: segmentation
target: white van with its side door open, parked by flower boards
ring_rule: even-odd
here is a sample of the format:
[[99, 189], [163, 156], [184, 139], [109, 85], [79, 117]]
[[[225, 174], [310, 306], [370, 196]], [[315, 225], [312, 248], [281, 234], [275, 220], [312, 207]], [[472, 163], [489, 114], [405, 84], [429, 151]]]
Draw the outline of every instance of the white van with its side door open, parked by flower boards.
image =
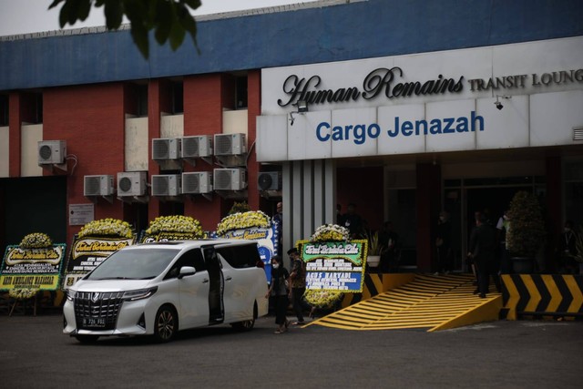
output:
[[229, 323], [250, 330], [268, 312], [256, 241], [168, 241], [117, 251], [67, 290], [63, 333], [154, 335]]

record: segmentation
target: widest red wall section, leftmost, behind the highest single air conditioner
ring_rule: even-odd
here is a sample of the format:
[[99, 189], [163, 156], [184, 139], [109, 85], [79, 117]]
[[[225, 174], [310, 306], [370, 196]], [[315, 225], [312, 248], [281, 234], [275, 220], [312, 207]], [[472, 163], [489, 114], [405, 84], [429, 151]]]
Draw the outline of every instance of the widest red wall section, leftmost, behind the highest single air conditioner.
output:
[[[68, 160], [67, 209], [69, 204], [85, 204], [84, 176], [111, 174], [124, 170], [124, 87], [102, 84], [57, 87], [44, 92], [43, 138], [66, 139], [67, 154], [77, 157], [77, 166]], [[52, 173], [49, 170], [45, 174]], [[95, 219], [122, 219], [120, 201], [99, 199]], [[80, 226], [67, 227], [72, 241]]]

